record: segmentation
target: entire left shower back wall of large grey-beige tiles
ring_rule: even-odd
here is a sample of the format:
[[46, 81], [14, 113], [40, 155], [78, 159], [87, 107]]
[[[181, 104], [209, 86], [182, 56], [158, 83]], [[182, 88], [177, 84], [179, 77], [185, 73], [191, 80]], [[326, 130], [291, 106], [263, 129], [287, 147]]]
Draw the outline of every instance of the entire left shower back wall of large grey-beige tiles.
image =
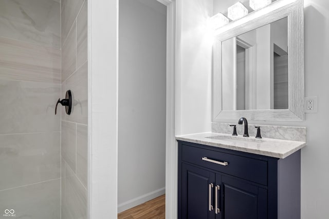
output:
[[60, 218], [60, 10], [0, 1], [0, 215]]

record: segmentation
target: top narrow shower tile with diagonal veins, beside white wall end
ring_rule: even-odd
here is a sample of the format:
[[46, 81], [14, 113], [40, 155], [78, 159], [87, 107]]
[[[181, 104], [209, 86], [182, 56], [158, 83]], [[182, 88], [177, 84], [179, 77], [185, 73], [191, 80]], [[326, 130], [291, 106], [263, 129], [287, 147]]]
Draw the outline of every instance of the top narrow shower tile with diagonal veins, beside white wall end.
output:
[[87, 1], [77, 17], [77, 67], [87, 61]]

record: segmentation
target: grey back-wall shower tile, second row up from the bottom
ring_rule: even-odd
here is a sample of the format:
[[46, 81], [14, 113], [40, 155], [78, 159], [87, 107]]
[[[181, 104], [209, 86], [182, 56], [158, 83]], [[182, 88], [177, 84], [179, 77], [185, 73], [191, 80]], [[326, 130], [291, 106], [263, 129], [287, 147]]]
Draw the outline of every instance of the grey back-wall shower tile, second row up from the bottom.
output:
[[0, 135], [0, 190], [60, 177], [60, 132]]

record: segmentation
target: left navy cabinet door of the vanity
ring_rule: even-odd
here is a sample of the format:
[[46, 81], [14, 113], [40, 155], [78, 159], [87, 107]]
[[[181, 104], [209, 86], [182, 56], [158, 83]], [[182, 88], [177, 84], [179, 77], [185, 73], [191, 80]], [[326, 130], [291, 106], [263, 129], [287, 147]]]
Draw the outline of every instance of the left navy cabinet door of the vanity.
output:
[[215, 218], [215, 173], [183, 163], [181, 174], [181, 218]]

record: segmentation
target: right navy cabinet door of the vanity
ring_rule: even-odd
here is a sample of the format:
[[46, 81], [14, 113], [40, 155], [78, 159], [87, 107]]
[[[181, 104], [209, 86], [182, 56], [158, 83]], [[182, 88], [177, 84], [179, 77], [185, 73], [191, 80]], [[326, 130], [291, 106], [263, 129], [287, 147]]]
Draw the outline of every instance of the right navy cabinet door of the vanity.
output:
[[216, 175], [222, 182], [222, 218], [264, 219], [267, 218], [267, 190], [246, 183], [239, 178]]

